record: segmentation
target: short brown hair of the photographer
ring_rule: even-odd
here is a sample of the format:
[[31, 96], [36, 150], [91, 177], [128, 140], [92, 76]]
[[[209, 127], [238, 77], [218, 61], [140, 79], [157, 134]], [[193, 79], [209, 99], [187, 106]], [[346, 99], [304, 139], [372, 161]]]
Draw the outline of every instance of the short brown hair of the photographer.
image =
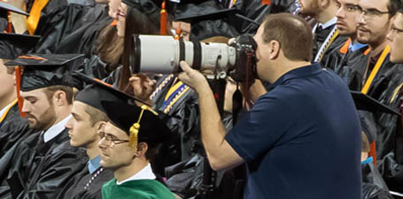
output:
[[263, 42], [277, 41], [285, 57], [311, 61], [314, 35], [305, 19], [290, 13], [269, 14], [264, 22]]

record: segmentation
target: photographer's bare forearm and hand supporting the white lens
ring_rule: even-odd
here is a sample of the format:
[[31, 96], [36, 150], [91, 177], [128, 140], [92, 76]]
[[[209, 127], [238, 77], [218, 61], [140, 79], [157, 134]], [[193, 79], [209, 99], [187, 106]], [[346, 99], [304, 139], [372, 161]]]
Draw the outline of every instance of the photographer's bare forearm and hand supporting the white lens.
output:
[[200, 107], [201, 138], [213, 170], [227, 169], [241, 165], [244, 161], [224, 139], [226, 130], [215, 103], [213, 91], [205, 76], [181, 62], [183, 73], [179, 79], [198, 92]]

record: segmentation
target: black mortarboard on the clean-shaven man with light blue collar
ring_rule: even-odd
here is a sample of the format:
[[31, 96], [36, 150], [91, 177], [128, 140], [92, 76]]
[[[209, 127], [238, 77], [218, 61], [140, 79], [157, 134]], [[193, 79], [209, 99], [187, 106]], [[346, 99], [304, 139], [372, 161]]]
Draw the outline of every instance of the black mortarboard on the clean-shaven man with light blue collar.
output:
[[[131, 101], [135, 100], [137, 102], [151, 106], [150, 104], [145, 103], [142, 100], [136, 98], [136, 96], [130, 96], [127, 93], [124, 93], [117, 88], [113, 88], [113, 86], [111, 84], [108, 84], [102, 80], [98, 80], [97, 78], [92, 78], [87, 74], [74, 73], [74, 77], [78, 78], [84, 82], [87, 82], [90, 88], [94, 88], [94, 90], [92, 90], [92, 91], [90, 89], [84, 88], [82, 91], [80, 91], [79, 94], [77, 94], [75, 100], [79, 100], [82, 103], [87, 103], [90, 105], [92, 104], [91, 106], [93, 106], [101, 111], [105, 112], [105, 110], [102, 108], [102, 105], [100, 103], [101, 100], [119, 101], [122, 103], [133, 103]], [[92, 85], [92, 86], [90, 86], [90, 85]], [[94, 95], [94, 96], [91, 97], [91, 95]], [[104, 98], [106, 98], [106, 99], [104, 99]]]

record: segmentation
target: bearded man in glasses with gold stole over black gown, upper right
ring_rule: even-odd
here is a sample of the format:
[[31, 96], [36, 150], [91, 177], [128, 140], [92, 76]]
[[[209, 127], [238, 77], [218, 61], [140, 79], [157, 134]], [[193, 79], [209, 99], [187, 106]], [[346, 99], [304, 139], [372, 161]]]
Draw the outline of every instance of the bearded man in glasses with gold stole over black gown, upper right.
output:
[[[391, 108], [398, 109], [397, 104], [391, 102], [394, 97], [393, 90], [399, 82], [391, 81], [392, 75], [399, 72], [398, 65], [391, 63], [386, 35], [391, 27], [391, 19], [398, 11], [397, 0], [360, 0], [360, 14], [356, 18], [357, 40], [366, 43], [371, 50], [368, 57], [361, 59], [353, 65], [353, 79], [350, 88], [359, 90], [361, 93], [372, 96], [376, 100]], [[397, 85], [396, 85], [397, 84]], [[372, 117], [372, 116], [371, 116]], [[380, 159], [393, 148], [396, 120], [391, 114], [376, 114], [376, 134], [371, 137], [376, 141], [371, 143], [372, 157]], [[385, 120], [388, 119], [388, 120]]]

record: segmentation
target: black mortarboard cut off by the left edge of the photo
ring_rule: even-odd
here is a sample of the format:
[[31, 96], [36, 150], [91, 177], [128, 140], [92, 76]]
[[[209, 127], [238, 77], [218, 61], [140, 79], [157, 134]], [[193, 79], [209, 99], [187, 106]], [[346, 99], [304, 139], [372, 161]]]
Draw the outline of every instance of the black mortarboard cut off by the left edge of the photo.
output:
[[41, 36], [0, 33], [0, 58], [14, 59], [35, 48]]

